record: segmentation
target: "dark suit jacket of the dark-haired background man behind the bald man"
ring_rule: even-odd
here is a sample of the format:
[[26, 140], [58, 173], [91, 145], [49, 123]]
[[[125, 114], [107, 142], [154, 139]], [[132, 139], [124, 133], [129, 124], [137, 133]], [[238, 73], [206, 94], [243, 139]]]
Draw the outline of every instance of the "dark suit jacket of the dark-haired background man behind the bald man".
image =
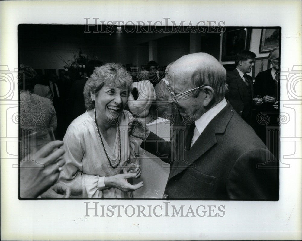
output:
[[[233, 71], [227, 72], [226, 84], [228, 84], [229, 92], [226, 94], [226, 99], [230, 101], [236, 112], [249, 123], [251, 119], [254, 90], [252, 77], [247, 75], [247, 78], [251, 87], [251, 97], [249, 99], [244, 97], [243, 88], [246, 88], [246, 84], [240, 77], [238, 70], [235, 68]], [[245, 105], [249, 105], [250, 108], [245, 109]]]

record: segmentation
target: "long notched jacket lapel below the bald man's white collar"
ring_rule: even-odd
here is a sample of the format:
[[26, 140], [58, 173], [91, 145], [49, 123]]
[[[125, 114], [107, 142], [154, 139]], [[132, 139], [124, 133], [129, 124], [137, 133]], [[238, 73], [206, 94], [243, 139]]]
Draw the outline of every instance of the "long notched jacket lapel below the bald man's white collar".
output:
[[228, 102], [226, 107], [224, 107], [223, 110], [221, 110], [220, 113], [213, 118], [213, 120], [207, 125], [207, 127], [195, 141], [191, 149], [186, 153], [185, 161], [181, 162], [181, 164], [178, 166], [172, 166], [169, 179], [181, 173], [188, 167], [194, 168], [194, 161], [196, 161], [217, 143], [216, 134], [225, 132], [226, 126], [233, 114], [234, 110]]

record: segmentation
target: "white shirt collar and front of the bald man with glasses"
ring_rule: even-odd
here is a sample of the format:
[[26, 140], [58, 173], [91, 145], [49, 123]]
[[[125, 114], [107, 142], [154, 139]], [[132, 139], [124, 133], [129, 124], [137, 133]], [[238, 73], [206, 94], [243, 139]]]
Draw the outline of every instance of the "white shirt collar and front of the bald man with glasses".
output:
[[204, 131], [204, 129], [207, 127], [207, 125], [210, 123], [210, 121], [217, 116], [217, 114], [226, 106], [227, 102], [226, 99], [223, 98], [216, 106], [209, 109], [206, 113], [204, 113], [198, 120], [195, 120], [195, 129], [194, 129], [194, 135], [191, 141], [191, 147], [195, 143], [195, 141], [198, 139], [200, 134]]

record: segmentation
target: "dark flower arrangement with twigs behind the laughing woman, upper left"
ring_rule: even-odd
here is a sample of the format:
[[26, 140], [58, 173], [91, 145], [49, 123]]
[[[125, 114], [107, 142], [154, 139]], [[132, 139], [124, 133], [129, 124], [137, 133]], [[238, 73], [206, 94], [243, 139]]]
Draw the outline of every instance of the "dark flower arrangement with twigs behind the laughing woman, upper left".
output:
[[77, 55], [73, 53], [73, 59], [71, 60], [68, 59], [65, 61], [60, 55], [57, 55], [57, 57], [66, 64], [64, 65], [65, 71], [63, 71], [63, 75], [66, 79], [77, 80], [85, 77], [88, 58], [86, 54], [83, 54], [81, 49]]

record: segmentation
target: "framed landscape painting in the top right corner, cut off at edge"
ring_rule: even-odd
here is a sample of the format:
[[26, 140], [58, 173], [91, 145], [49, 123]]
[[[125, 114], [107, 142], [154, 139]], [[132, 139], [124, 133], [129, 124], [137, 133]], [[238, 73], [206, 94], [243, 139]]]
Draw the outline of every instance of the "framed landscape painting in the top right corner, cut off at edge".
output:
[[261, 30], [259, 53], [270, 52], [279, 46], [280, 29], [263, 28]]

